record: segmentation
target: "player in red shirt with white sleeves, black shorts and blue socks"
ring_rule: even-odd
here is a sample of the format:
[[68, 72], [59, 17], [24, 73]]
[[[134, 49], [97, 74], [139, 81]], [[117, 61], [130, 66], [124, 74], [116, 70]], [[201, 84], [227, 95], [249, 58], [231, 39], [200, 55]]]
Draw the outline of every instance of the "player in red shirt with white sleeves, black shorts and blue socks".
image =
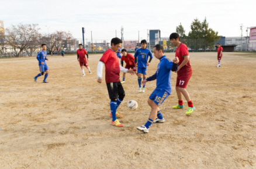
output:
[[130, 73], [131, 75], [134, 75], [135, 73], [133, 70], [125, 69], [119, 65], [119, 59], [116, 57], [116, 51], [119, 50], [121, 46], [122, 40], [120, 40], [120, 38], [112, 38], [111, 48], [104, 52], [101, 59], [99, 60], [97, 68], [98, 82], [102, 83], [102, 71], [105, 64], [105, 80], [110, 98], [110, 116], [112, 116], [111, 124], [119, 127], [122, 127], [123, 125], [120, 124], [116, 118], [120, 117], [120, 115], [116, 112], [116, 109], [119, 107], [120, 103], [122, 103], [125, 96], [123, 86], [119, 79], [119, 73], [120, 71]]

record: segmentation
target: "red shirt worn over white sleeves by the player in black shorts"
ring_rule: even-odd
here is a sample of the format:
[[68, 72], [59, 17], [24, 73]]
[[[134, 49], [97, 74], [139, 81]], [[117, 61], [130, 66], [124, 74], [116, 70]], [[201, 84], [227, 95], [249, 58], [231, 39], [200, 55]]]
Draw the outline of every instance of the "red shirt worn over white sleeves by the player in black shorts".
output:
[[120, 82], [119, 79], [119, 73], [120, 73], [120, 67], [119, 67], [119, 59], [116, 55], [116, 52], [108, 49], [104, 54], [102, 55], [101, 59], [99, 60], [105, 64], [105, 80], [106, 83], [112, 83], [112, 82]]

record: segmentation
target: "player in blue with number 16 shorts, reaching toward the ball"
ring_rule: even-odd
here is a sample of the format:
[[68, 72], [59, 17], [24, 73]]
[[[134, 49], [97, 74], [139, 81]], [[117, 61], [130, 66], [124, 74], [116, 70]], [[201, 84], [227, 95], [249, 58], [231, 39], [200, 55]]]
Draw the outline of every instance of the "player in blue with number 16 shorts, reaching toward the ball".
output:
[[160, 105], [164, 100], [171, 94], [171, 71], [178, 70], [179, 59], [175, 58], [173, 61], [164, 55], [164, 48], [162, 45], [157, 44], [154, 47], [154, 56], [160, 59], [160, 63], [157, 66], [157, 71], [153, 76], [150, 76], [142, 83], [152, 81], [157, 79], [157, 87], [153, 93], [148, 98], [148, 105], [151, 107], [150, 116], [145, 125], [137, 127], [139, 131], [148, 133], [148, 128], [153, 122], [164, 122], [164, 117], [162, 117], [161, 111], [159, 109]]

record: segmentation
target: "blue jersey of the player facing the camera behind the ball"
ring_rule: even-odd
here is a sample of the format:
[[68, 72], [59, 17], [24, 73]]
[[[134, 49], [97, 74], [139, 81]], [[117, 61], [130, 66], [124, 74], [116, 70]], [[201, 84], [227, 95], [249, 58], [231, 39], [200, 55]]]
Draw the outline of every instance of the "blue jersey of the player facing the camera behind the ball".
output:
[[147, 68], [148, 56], [150, 56], [150, 58], [153, 58], [151, 51], [147, 48], [145, 48], [144, 50], [140, 48], [136, 51], [134, 57], [137, 58], [138, 68]]

